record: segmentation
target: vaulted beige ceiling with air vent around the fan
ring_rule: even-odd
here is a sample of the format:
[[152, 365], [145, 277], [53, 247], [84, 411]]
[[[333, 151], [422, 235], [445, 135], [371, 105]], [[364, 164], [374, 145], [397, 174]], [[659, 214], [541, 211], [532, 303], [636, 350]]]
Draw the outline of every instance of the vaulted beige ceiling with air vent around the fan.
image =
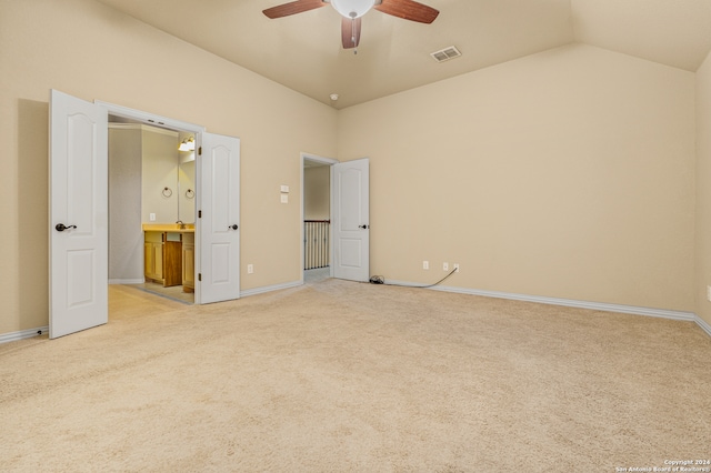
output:
[[[330, 6], [270, 20], [288, 0], [97, 1], [338, 109], [571, 42], [689, 71], [711, 50], [711, 0], [422, 0], [432, 24], [368, 12], [358, 54]], [[462, 57], [430, 57], [450, 46]]]

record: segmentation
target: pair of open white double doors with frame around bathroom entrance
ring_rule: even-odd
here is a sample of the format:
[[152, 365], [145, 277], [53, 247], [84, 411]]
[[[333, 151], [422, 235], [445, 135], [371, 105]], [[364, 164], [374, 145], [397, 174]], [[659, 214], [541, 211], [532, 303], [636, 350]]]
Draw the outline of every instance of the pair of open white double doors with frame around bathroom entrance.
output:
[[50, 339], [108, 322], [109, 114], [194, 133], [194, 302], [240, 296], [240, 139], [50, 90]]

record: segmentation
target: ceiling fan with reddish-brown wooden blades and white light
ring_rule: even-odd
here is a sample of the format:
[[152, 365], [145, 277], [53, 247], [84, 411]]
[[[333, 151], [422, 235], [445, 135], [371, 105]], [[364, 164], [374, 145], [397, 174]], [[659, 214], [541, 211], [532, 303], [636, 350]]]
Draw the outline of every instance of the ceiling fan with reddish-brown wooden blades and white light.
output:
[[326, 7], [328, 3], [338, 11], [341, 20], [343, 49], [357, 48], [360, 42], [361, 17], [375, 9], [383, 13], [420, 23], [431, 23], [440, 12], [414, 0], [296, 0], [268, 8], [263, 13], [271, 18], [282, 18]]

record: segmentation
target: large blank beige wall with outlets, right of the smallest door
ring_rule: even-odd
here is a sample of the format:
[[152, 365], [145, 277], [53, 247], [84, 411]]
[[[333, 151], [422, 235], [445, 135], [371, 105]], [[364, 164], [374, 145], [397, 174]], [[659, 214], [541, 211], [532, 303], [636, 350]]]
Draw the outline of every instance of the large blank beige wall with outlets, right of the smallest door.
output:
[[371, 159], [373, 274], [460, 263], [447, 285], [694, 310], [693, 73], [573, 44], [344, 109], [338, 132], [341, 161]]

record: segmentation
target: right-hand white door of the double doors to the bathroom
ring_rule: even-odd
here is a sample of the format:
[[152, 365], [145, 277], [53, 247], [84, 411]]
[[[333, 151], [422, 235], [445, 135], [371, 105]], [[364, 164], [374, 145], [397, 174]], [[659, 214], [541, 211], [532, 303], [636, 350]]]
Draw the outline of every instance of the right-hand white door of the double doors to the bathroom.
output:
[[240, 296], [240, 140], [200, 134], [196, 302], [207, 304]]

